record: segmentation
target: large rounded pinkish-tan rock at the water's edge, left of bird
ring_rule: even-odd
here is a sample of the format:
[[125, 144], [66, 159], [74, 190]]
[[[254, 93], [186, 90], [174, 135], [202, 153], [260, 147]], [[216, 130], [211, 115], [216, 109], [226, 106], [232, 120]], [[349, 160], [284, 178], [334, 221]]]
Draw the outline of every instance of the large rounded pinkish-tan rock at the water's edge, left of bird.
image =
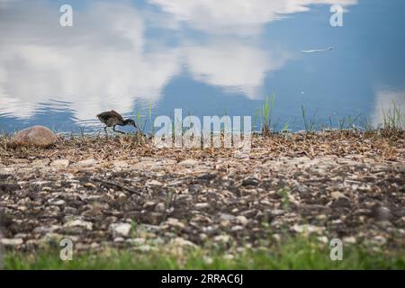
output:
[[36, 146], [47, 148], [54, 145], [58, 137], [51, 130], [44, 126], [32, 126], [30, 128], [18, 131], [10, 142], [13, 147], [17, 146]]

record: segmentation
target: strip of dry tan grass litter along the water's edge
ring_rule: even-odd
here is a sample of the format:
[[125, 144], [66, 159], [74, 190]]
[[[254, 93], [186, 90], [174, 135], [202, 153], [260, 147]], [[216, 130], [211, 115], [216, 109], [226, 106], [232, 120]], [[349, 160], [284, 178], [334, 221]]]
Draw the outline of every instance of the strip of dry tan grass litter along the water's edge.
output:
[[[0, 138], [0, 158], [68, 158], [79, 161], [96, 158], [103, 161], [128, 160], [136, 157], [184, 158], [233, 157], [236, 148], [156, 148], [151, 139], [141, 134], [104, 137], [59, 136], [51, 148], [10, 148], [8, 136]], [[362, 155], [379, 160], [403, 160], [405, 132], [403, 130], [329, 130], [291, 134], [254, 135], [252, 149], [263, 150], [269, 158], [277, 157], [347, 157]], [[256, 153], [257, 154], [257, 153]], [[260, 153], [259, 153], [260, 154]]]

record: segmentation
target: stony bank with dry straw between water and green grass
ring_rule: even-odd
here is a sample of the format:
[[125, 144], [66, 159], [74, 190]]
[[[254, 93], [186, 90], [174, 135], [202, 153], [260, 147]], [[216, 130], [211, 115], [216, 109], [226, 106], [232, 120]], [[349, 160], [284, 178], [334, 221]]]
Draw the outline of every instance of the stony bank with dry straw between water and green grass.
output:
[[236, 149], [157, 149], [120, 136], [0, 148], [5, 248], [268, 247], [313, 235], [405, 247], [404, 133], [254, 137]]

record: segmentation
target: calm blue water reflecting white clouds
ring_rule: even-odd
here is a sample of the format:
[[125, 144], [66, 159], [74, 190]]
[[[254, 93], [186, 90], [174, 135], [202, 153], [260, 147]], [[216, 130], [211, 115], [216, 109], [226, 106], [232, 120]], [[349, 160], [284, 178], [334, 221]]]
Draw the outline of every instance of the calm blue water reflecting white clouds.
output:
[[[331, 27], [331, 3], [343, 27]], [[71, 4], [73, 27], [59, 7]], [[0, 130], [98, 130], [142, 121], [252, 115], [276, 94], [279, 129], [405, 109], [403, 0], [0, 1]], [[333, 49], [328, 49], [332, 47]], [[304, 50], [325, 49], [302, 53]], [[254, 121], [256, 126], [259, 125]], [[148, 127], [148, 123], [147, 123]]]

